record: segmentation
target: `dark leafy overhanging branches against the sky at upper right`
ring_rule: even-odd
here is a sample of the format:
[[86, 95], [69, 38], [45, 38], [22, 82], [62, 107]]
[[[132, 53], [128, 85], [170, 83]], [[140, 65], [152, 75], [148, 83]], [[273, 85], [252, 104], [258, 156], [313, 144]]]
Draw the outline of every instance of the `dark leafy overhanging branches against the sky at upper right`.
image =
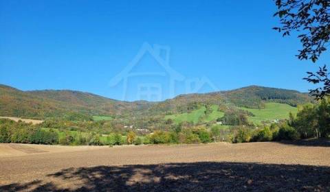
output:
[[[327, 50], [330, 39], [330, 1], [329, 0], [274, 0], [281, 22], [280, 27], [274, 27], [283, 36], [298, 32], [298, 38], [303, 49], [298, 50], [299, 60], [316, 62], [320, 55]], [[314, 84], [320, 84], [310, 90], [316, 99], [330, 95], [330, 80], [327, 67], [320, 67], [316, 73], [307, 72], [304, 79]]]

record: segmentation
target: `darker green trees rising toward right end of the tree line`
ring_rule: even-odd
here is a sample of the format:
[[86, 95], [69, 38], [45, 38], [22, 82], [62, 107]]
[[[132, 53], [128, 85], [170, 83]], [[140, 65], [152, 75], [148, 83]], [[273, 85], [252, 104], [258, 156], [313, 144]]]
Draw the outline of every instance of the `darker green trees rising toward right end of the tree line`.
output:
[[289, 119], [263, 128], [240, 127], [232, 130], [233, 143], [253, 141], [281, 141], [309, 138], [329, 138], [330, 99], [326, 97], [317, 104], [298, 106], [296, 115], [290, 113]]

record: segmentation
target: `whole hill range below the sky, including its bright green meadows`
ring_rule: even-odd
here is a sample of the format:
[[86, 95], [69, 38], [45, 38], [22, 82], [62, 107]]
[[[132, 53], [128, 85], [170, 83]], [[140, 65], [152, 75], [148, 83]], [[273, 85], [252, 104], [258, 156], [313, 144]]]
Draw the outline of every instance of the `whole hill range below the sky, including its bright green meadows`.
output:
[[[0, 85], [0, 116], [63, 118], [69, 121], [111, 119], [118, 125], [153, 128], [162, 125], [166, 119], [173, 119], [175, 123], [208, 123], [223, 117], [223, 112], [237, 108], [254, 113], [255, 117], [250, 117], [254, 122], [283, 119], [287, 118], [289, 111], [296, 111], [295, 106], [307, 102], [314, 100], [305, 93], [261, 86], [179, 95], [160, 102], [128, 102], [81, 91], [20, 91]], [[210, 109], [206, 111], [205, 106], [210, 106]]]

